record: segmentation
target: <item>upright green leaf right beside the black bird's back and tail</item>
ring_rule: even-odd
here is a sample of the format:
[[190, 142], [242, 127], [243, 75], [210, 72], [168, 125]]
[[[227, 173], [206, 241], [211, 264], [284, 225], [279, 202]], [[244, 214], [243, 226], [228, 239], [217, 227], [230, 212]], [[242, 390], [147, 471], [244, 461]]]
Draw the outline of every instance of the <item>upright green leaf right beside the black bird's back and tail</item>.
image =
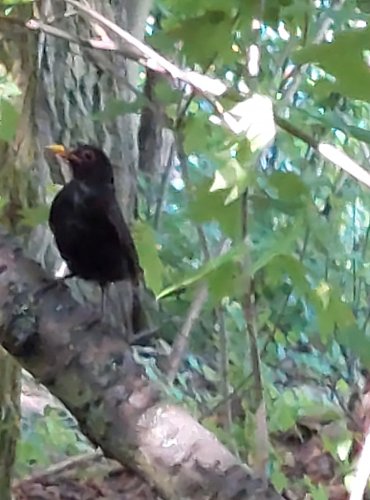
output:
[[144, 270], [145, 282], [157, 294], [163, 287], [163, 264], [158, 255], [155, 233], [148, 224], [137, 221], [133, 228], [133, 237], [140, 265]]

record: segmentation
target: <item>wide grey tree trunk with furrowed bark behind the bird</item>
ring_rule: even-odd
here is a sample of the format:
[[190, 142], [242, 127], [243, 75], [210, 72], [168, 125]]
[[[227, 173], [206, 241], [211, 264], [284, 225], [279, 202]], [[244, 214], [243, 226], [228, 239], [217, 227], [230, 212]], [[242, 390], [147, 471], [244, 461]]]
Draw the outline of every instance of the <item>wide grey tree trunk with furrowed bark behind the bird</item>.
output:
[[[150, 0], [91, 0], [89, 5], [142, 38], [150, 3]], [[91, 27], [80, 17], [72, 15], [60, 20], [64, 12], [62, 0], [40, 2], [41, 18], [55, 17], [59, 20], [58, 26], [68, 32], [88, 34]], [[67, 145], [77, 141], [91, 142], [102, 147], [117, 165], [115, 180], [119, 199], [127, 218], [131, 218], [136, 193], [138, 117], [124, 115], [103, 123], [93, 120], [93, 114], [104, 109], [111, 100], [132, 99], [127, 82], [135, 86], [137, 73], [136, 64], [117, 54], [91, 51], [42, 33], [39, 35], [34, 109], [40, 152], [37, 162], [40, 198], [45, 197], [45, 186], [50, 182], [43, 147], [51, 142]], [[56, 182], [63, 182], [59, 168], [52, 169], [51, 177]], [[38, 228], [32, 240], [32, 255], [47, 269], [54, 268], [59, 260], [50, 242], [49, 231]]]

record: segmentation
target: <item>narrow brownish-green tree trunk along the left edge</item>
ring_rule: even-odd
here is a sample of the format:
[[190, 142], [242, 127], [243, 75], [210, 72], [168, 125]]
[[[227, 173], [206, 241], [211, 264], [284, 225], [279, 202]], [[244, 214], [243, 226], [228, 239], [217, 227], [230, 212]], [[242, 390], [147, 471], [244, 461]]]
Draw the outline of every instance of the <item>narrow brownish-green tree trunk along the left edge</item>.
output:
[[[27, 18], [30, 13], [28, 7], [20, 15]], [[32, 99], [36, 89], [33, 64], [36, 39], [24, 31], [19, 34], [18, 42], [14, 44], [0, 32], [0, 64], [23, 90], [14, 100], [22, 116], [15, 139], [12, 144], [0, 141], [0, 194], [6, 200], [1, 220], [13, 231], [19, 229], [20, 210], [37, 203], [28, 168], [35, 157]], [[20, 376], [19, 365], [0, 349], [0, 498], [3, 500], [11, 498], [10, 484], [19, 436]]]

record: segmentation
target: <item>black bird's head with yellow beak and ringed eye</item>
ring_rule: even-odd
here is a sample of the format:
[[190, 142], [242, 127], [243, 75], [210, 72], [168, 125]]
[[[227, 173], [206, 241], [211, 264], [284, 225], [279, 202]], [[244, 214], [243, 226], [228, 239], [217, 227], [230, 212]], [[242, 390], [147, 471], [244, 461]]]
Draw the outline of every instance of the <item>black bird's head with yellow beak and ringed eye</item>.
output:
[[69, 163], [74, 179], [86, 184], [113, 183], [112, 164], [101, 149], [88, 144], [74, 149], [52, 144], [46, 149]]

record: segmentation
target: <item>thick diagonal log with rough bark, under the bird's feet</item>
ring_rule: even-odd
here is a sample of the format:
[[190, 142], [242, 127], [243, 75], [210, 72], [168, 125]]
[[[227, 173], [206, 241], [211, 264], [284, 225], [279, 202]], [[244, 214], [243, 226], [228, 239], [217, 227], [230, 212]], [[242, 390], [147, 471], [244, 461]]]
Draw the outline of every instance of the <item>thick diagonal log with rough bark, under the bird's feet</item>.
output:
[[213, 434], [160, 400], [122, 335], [99, 322], [0, 232], [0, 340], [75, 415], [83, 432], [165, 498], [280, 498]]

